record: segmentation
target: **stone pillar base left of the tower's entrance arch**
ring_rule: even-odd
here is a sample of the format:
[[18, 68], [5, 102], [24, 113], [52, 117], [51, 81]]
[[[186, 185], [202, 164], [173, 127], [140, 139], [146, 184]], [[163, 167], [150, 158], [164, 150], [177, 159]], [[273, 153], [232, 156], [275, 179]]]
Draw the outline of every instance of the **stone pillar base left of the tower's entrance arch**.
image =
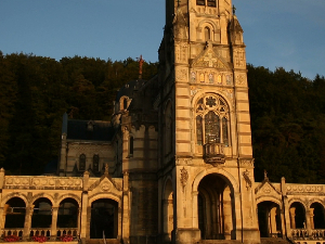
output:
[[193, 244], [200, 241], [200, 230], [193, 228], [178, 228], [171, 232], [171, 241], [176, 244]]

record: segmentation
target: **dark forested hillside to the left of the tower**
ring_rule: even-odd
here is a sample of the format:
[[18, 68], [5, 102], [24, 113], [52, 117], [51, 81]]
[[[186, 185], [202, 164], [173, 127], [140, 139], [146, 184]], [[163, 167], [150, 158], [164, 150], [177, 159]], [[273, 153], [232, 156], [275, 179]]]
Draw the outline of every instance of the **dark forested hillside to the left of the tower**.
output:
[[[157, 63], [143, 64], [143, 78]], [[139, 77], [139, 63], [89, 57], [60, 62], [0, 51], [0, 167], [39, 175], [58, 155], [62, 116], [108, 120], [117, 90]]]

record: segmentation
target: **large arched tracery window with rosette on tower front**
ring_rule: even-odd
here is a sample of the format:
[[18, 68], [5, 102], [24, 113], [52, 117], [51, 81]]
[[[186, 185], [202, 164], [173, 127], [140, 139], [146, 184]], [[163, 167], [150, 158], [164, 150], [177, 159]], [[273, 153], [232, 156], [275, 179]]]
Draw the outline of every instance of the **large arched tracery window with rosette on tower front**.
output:
[[217, 94], [206, 94], [196, 104], [196, 143], [230, 145], [229, 106]]

